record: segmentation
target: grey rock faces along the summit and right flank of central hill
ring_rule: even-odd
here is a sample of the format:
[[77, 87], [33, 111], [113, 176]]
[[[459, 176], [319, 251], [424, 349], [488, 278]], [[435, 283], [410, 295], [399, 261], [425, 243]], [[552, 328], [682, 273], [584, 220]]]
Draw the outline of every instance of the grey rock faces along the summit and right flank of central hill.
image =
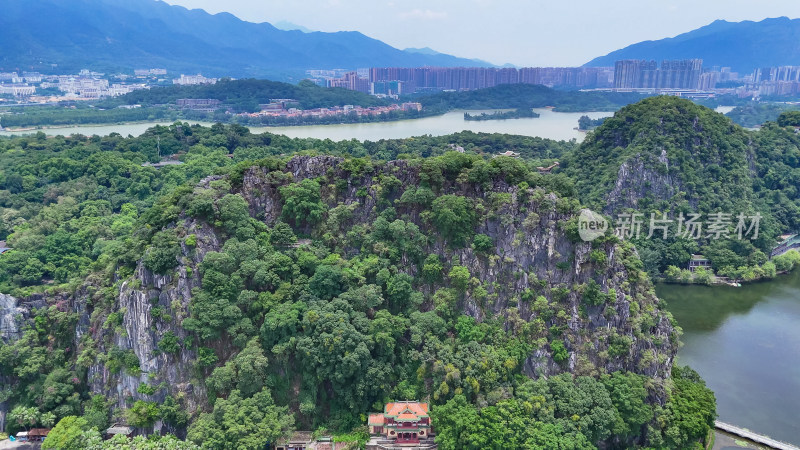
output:
[[[286, 172], [291, 173], [293, 181], [323, 175], [348, 180], [340, 194], [330, 187], [323, 188], [323, 198], [331, 199], [331, 206], [336, 204], [333, 199], [339, 204], [354, 205], [354, 223], [366, 222], [377, 214], [380, 188], [375, 180], [381, 176], [397, 177], [404, 188], [420, 184], [420, 168], [409, 166], [406, 161], [386, 163], [357, 179], [339, 167], [341, 162], [334, 157], [294, 158]], [[245, 172], [238, 191], [250, 204], [253, 216], [271, 223], [280, 215], [281, 184], [275, 183], [271, 171], [254, 167]], [[359, 196], [358, 192], [365, 189], [368, 195]], [[460, 261], [472, 276], [489, 286], [486, 301], [468, 294], [462, 305], [464, 314], [479, 321], [487, 316], [504, 316], [509, 329], [515, 326], [514, 320], [530, 322], [538, 313], [532, 309], [532, 302], [521, 300], [521, 295], [542, 285], [547, 286], [543, 293], [548, 301], [561, 304], [567, 312], [564, 322], [568, 364], [556, 363], [547, 348], [540, 348], [528, 358], [525, 373], [549, 376], [568, 370], [589, 375], [596, 374], [595, 367], [600, 367], [608, 372], [630, 370], [655, 378], [669, 376], [677, 351], [675, 329], [668, 314], [657, 306], [649, 281], [639, 278], [638, 269], [631, 270], [631, 260], [637, 259], [631, 248], [612, 243], [593, 247], [570, 239], [565, 227], [575, 219], [574, 212], [559, 212], [563, 199], [542, 190], [521, 191], [505, 182], [495, 182], [488, 188], [455, 182], [445, 183], [441, 192], [466, 196], [486, 210], [476, 231], [491, 237], [497, 251], [489, 257], [469, 247], [453, 251], [441, 239], [428, 249], [445, 259]], [[419, 209], [399, 206], [397, 210], [422, 229], [430, 227], [420, 219]], [[590, 260], [595, 248], [605, 255], [604, 263]], [[582, 293], [591, 280], [600, 285], [602, 292], [616, 293], [615, 299], [601, 306], [587, 306]], [[610, 355], [611, 342], [629, 342], [629, 350], [619, 356], [614, 356], [612, 350]]]

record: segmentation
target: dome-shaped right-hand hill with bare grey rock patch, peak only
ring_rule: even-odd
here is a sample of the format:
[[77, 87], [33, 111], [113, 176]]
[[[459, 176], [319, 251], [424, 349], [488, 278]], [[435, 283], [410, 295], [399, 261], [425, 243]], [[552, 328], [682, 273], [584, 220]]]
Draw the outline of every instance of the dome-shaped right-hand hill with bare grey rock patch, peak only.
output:
[[564, 161], [585, 204], [611, 214], [655, 206], [730, 208], [754, 197], [755, 148], [727, 117], [652, 97], [622, 108]]

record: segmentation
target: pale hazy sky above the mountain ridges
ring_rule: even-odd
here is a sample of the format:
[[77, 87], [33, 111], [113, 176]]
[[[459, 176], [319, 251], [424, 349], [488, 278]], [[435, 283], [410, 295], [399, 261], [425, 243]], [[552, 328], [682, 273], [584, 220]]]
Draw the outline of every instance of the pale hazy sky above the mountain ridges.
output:
[[398, 48], [431, 47], [518, 66], [576, 66], [629, 44], [716, 20], [800, 17], [798, 0], [167, 0], [250, 22], [356, 30]]

